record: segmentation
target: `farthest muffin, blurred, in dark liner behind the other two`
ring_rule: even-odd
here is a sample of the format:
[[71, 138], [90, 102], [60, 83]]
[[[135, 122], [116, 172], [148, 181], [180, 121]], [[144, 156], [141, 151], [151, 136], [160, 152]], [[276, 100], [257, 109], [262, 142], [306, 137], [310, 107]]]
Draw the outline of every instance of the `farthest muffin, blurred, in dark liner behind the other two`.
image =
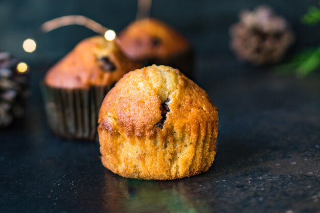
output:
[[123, 52], [144, 65], [177, 67], [193, 77], [193, 51], [188, 41], [173, 28], [156, 19], [132, 22], [119, 34]]

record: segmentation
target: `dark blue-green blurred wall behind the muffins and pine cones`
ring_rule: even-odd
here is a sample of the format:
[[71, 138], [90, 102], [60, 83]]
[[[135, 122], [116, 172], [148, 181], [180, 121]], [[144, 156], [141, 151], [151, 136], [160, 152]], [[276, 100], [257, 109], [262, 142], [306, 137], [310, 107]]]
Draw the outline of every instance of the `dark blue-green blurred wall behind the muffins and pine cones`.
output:
[[[151, 16], [161, 19], [184, 34], [201, 57], [216, 57], [228, 53], [228, 28], [237, 21], [243, 9], [265, 4], [284, 16], [293, 28], [296, 51], [319, 43], [320, 28], [304, 26], [301, 16], [311, 0], [154, 0]], [[30, 64], [52, 64], [70, 51], [76, 43], [93, 32], [79, 26], [65, 27], [38, 39], [34, 54], [24, 53], [21, 44], [32, 37], [41, 23], [63, 15], [84, 15], [120, 32], [135, 18], [136, 1], [76, 1], [76, 0], [10, 0], [0, 2], [0, 48]]]

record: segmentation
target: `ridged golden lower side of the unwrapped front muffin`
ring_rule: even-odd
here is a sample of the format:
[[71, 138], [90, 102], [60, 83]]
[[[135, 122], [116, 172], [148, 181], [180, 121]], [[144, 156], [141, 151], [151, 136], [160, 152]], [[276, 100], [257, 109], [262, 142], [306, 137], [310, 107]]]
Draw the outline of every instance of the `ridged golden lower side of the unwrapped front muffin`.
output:
[[[210, 133], [184, 131], [182, 137], [167, 135], [164, 138], [163, 134], [156, 134], [154, 138], [145, 139], [110, 134], [101, 126], [99, 129], [100, 140], [112, 141], [101, 144], [103, 165], [127, 178], [170, 180], [190, 177], [207, 171], [215, 156], [215, 150], [210, 151], [208, 146], [215, 143]], [[185, 135], [191, 134], [186, 138]]]

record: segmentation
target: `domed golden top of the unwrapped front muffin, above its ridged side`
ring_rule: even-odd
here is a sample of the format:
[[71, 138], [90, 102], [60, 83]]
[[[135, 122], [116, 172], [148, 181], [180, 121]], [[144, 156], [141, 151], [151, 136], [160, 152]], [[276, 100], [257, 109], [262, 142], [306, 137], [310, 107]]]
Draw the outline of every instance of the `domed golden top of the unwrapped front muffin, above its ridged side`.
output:
[[99, 113], [100, 128], [149, 138], [186, 124], [199, 131], [213, 122], [218, 122], [218, 112], [207, 93], [178, 69], [163, 65], [126, 74], [109, 91]]

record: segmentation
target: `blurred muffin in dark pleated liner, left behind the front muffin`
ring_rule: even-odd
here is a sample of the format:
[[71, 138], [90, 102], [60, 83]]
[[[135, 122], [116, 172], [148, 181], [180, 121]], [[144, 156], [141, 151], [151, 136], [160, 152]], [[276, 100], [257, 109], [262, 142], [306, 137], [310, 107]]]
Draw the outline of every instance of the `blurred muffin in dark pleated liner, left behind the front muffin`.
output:
[[45, 75], [45, 109], [52, 130], [69, 138], [94, 139], [105, 94], [140, 64], [114, 41], [95, 36], [81, 41]]

